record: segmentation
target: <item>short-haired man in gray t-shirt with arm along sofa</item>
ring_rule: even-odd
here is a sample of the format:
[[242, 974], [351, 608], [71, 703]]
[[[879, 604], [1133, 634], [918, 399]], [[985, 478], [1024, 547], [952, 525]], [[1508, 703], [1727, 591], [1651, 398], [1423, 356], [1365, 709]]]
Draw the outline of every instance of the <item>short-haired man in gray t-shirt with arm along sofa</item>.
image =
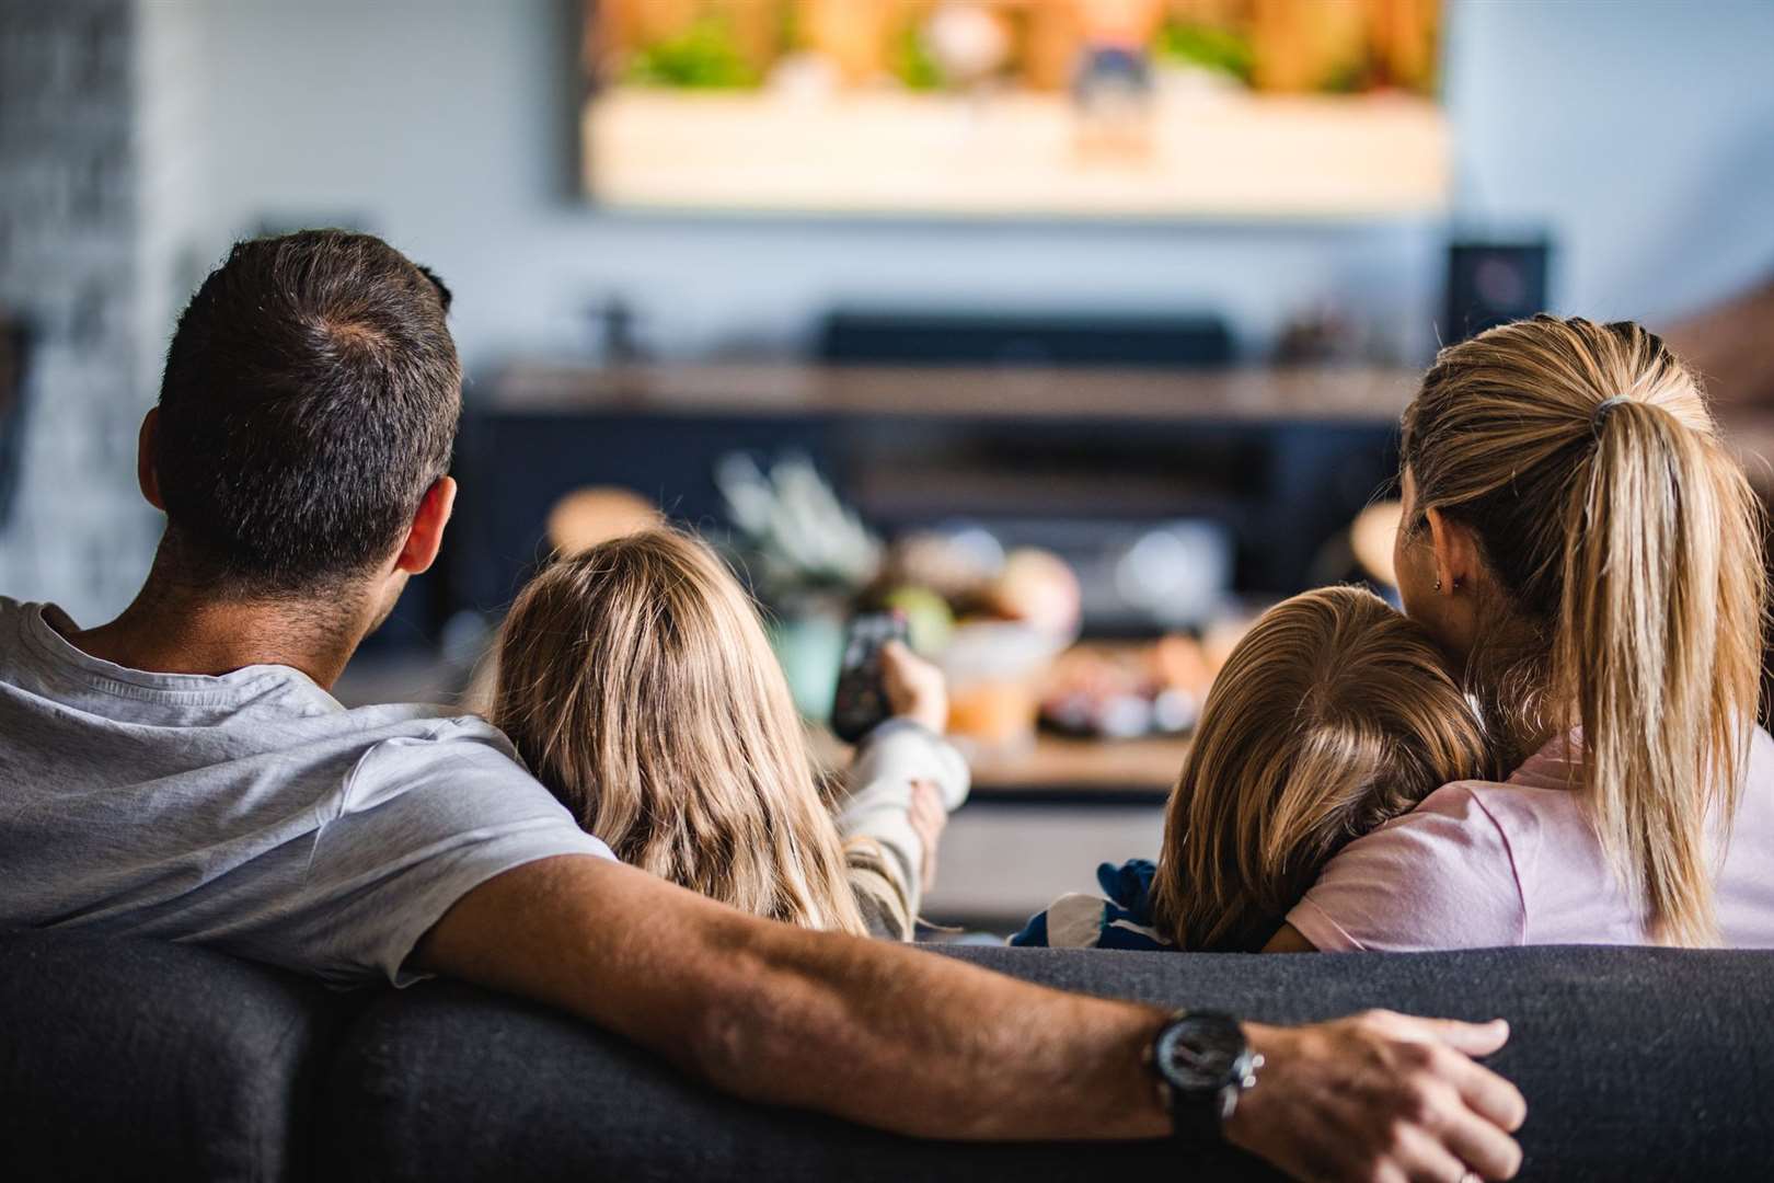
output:
[[0, 928], [454, 975], [919, 1137], [1181, 1128], [1295, 1174], [1515, 1172], [1524, 1101], [1469, 1059], [1501, 1023], [1176, 1018], [772, 924], [617, 864], [484, 722], [341, 708], [451, 514], [447, 307], [337, 231], [241, 243], [192, 298], [142, 424], [167, 532], [140, 596], [90, 630], [0, 599]]

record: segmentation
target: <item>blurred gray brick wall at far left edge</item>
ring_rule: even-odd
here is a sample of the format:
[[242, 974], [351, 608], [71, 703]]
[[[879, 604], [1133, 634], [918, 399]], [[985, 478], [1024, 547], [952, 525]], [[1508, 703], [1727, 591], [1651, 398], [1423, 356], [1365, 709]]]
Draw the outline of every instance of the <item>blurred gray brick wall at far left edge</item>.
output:
[[0, 0], [0, 305], [34, 330], [0, 594], [89, 623], [128, 603], [160, 532], [133, 463], [163, 316], [151, 280], [165, 234], [142, 167], [151, 9]]

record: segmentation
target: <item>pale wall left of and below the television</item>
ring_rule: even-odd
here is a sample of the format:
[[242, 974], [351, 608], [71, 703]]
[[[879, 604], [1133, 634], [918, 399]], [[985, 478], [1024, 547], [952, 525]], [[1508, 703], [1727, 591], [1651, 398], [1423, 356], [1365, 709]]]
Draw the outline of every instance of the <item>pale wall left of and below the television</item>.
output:
[[[365, 11], [358, 11], [358, 9]], [[1226, 309], [1254, 339], [1352, 287], [1401, 325], [1421, 227], [1183, 229], [601, 215], [573, 192], [555, 0], [211, 0], [216, 229], [365, 218], [458, 291], [474, 364], [587, 342], [621, 291], [671, 353], [779, 342], [830, 302]], [[1394, 330], [1416, 348], [1417, 330]]]

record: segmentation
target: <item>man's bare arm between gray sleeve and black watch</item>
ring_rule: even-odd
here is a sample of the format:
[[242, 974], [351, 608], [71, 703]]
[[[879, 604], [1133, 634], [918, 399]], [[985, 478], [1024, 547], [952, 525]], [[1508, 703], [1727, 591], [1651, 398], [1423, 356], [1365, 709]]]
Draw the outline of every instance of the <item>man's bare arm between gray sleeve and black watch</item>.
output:
[[757, 1101], [924, 1137], [1167, 1130], [1135, 1071], [1157, 1009], [757, 921], [601, 858], [491, 880], [415, 956], [582, 1015]]

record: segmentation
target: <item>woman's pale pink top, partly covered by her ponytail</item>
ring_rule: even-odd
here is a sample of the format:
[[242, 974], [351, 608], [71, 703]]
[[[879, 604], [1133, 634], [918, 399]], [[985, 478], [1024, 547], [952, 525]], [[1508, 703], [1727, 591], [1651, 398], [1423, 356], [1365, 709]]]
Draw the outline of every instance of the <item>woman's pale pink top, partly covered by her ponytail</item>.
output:
[[[1556, 740], [1506, 784], [1460, 780], [1345, 846], [1288, 913], [1318, 949], [1643, 945]], [[1774, 740], [1756, 727], [1714, 878], [1724, 944], [1774, 947]]]

